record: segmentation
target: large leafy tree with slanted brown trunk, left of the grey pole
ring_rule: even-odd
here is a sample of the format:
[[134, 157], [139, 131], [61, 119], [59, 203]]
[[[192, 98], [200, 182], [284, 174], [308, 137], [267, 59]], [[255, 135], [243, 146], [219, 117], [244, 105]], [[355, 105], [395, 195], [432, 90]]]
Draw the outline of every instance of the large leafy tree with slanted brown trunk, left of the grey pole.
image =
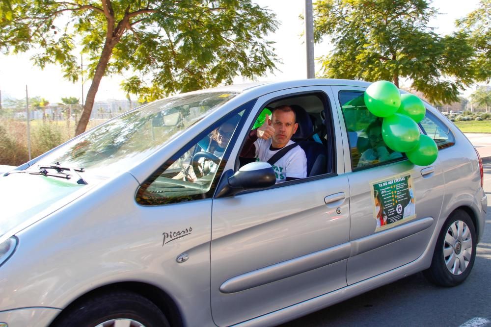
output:
[[[251, 0], [9, 0], [0, 6], [0, 49], [39, 49], [44, 68], [77, 81], [77, 43], [90, 56], [92, 83], [76, 134], [85, 130], [101, 78], [135, 74], [124, 89], [147, 99], [231, 83], [273, 71], [274, 15]], [[150, 79], [147, 84], [145, 81]]]

